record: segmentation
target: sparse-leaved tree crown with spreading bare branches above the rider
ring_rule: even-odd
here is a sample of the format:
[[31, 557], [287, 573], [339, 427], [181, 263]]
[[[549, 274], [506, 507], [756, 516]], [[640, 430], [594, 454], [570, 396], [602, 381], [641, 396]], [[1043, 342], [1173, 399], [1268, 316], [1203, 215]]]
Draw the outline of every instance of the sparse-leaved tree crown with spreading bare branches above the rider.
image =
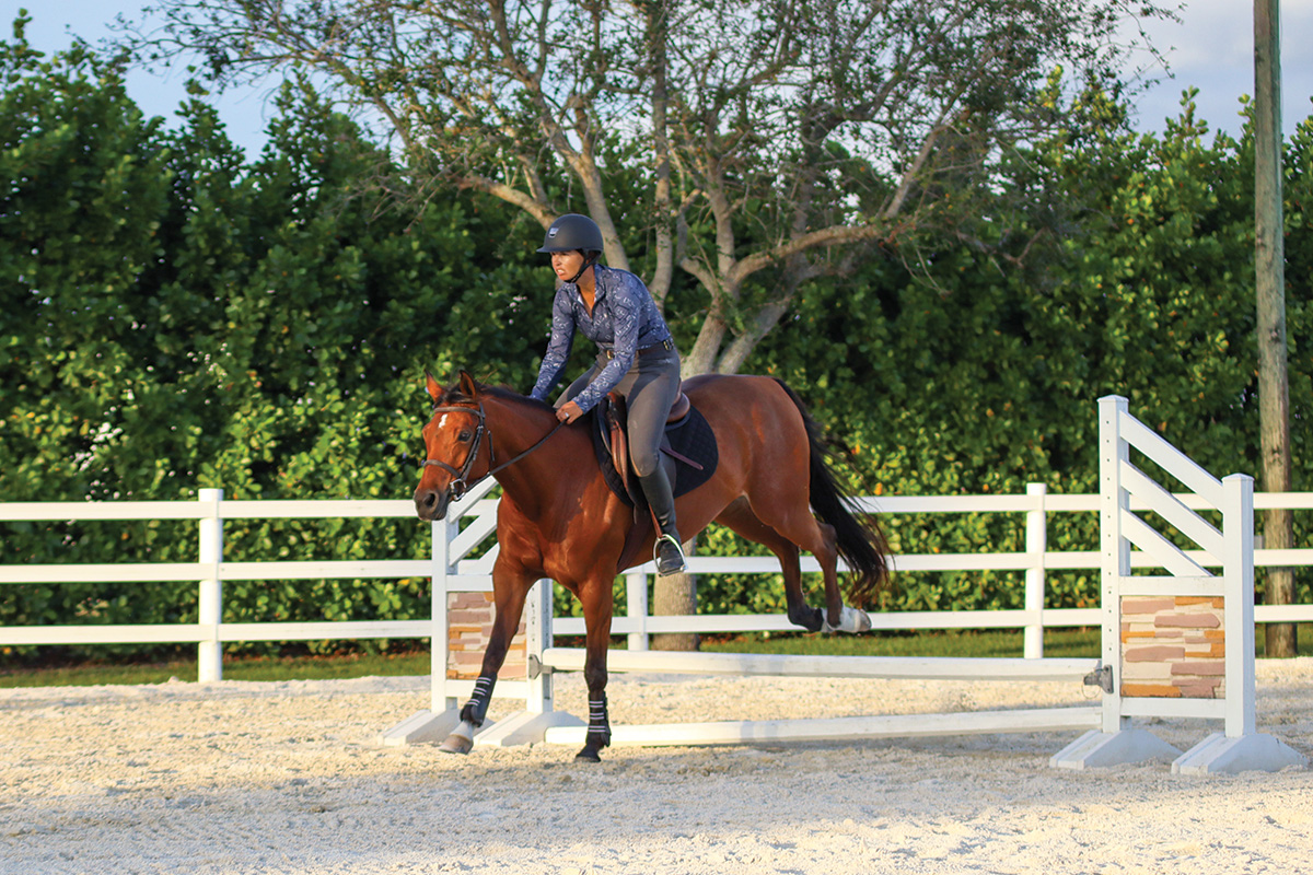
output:
[[[853, 268], [853, 247], [972, 215], [957, 195], [981, 190], [990, 156], [1064, 123], [1033, 100], [1050, 71], [1102, 83], [1127, 49], [1117, 0], [159, 9], [139, 54], [200, 52], [221, 83], [314, 71], [395, 138], [421, 194], [483, 192], [545, 227], [571, 206], [554, 181], [567, 177], [621, 268], [621, 228], [642, 228], [658, 300], [675, 268], [704, 295], [688, 374], [737, 371], [798, 287]], [[617, 190], [614, 138], [643, 168], [637, 209]], [[750, 302], [776, 268], [785, 282]]]

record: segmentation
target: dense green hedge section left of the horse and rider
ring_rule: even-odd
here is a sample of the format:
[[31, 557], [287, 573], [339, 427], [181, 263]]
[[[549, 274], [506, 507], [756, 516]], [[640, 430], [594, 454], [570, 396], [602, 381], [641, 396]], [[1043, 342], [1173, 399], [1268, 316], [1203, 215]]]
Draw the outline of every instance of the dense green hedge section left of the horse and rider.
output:
[[[85, 50], [46, 60], [21, 24], [3, 50], [7, 500], [404, 495], [424, 365], [504, 361], [503, 378], [530, 379], [542, 327], [516, 321], [528, 269], [519, 248], [502, 252], [506, 213], [453, 197], [378, 214], [353, 185], [394, 173], [386, 152], [312, 91], [286, 91], [269, 148], [248, 163], [200, 89], [165, 131]], [[33, 563], [194, 555], [184, 523], [8, 529], [9, 555]], [[412, 522], [234, 521], [226, 535], [234, 559], [424, 544]], [[0, 622], [194, 619], [194, 582], [140, 590], [14, 588]], [[234, 582], [226, 609], [230, 621], [410, 617], [427, 610], [423, 590]]]

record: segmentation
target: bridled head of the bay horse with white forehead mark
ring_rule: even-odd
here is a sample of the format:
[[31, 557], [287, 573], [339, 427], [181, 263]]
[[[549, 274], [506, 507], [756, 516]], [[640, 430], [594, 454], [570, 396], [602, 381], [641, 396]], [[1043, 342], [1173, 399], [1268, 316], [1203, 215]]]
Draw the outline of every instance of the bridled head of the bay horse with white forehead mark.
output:
[[[424, 384], [433, 411], [424, 426], [424, 463], [415, 489], [415, 513], [420, 519], [441, 519], [450, 502], [465, 495], [469, 484], [490, 467], [487, 422], [481, 387], [466, 371], [452, 390], [444, 390], [428, 371]], [[482, 457], [482, 458], [481, 458]]]

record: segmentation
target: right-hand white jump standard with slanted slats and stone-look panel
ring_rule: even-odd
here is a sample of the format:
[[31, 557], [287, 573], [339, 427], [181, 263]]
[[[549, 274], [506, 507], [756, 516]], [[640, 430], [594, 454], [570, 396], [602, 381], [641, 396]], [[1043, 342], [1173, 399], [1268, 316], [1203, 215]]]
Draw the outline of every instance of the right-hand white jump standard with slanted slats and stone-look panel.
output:
[[[1052, 765], [1087, 769], [1170, 760], [1171, 770], [1182, 774], [1275, 771], [1306, 765], [1304, 754], [1257, 731], [1254, 479], [1233, 474], [1216, 480], [1130, 416], [1127, 399], [1116, 395], [1099, 399], [1099, 442], [1103, 665], [1107, 678], [1103, 719], [1099, 729], [1067, 745], [1053, 757]], [[1132, 449], [1186, 484], [1209, 508], [1221, 512], [1221, 531], [1134, 466]], [[1221, 567], [1221, 576], [1209, 573], [1203, 564], [1132, 513], [1132, 497], [1194, 540], [1208, 556], [1205, 564]], [[1150, 555], [1167, 575], [1133, 576], [1132, 544]], [[1128, 656], [1133, 656], [1136, 632], [1124, 628], [1125, 609], [1129, 600], [1145, 596], [1166, 598], [1175, 605], [1197, 603], [1205, 597], [1221, 601], [1222, 698], [1191, 698], [1184, 685], [1171, 683], [1174, 677], [1188, 676], [1191, 669], [1184, 660], [1167, 666], [1166, 683], [1142, 685], [1142, 691], [1137, 691], [1127, 682], [1132, 665]], [[1180, 628], [1179, 622], [1170, 618], [1154, 626], [1165, 627], [1169, 635]], [[1153, 630], [1141, 634], [1152, 635]], [[1167, 647], [1157, 652], [1187, 655], [1188, 649]], [[1216, 695], [1216, 691], [1207, 694]], [[1132, 727], [1130, 719], [1137, 716], [1221, 719], [1225, 720], [1225, 731], [1209, 735], [1182, 753], [1146, 729]]]

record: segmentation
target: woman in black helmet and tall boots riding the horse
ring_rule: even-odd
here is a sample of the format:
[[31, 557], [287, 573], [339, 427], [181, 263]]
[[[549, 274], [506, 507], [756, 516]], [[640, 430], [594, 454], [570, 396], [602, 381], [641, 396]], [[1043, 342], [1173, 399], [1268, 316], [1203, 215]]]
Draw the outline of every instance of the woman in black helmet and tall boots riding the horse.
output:
[[658, 575], [684, 569], [675, 529], [675, 499], [660, 464], [660, 441], [670, 408], [679, 397], [679, 352], [643, 281], [628, 270], [597, 264], [601, 230], [586, 215], [551, 223], [538, 252], [551, 254], [561, 279], [551, 303], [551, 342], [530, 397], [546, 400], [570, 358], [575, 331], [597, 344], [597, 361], [557, 400], [557, 418], [574, 422], [608, 392], [629, 408], [629, 458], [651, 505], [660, 535]]

